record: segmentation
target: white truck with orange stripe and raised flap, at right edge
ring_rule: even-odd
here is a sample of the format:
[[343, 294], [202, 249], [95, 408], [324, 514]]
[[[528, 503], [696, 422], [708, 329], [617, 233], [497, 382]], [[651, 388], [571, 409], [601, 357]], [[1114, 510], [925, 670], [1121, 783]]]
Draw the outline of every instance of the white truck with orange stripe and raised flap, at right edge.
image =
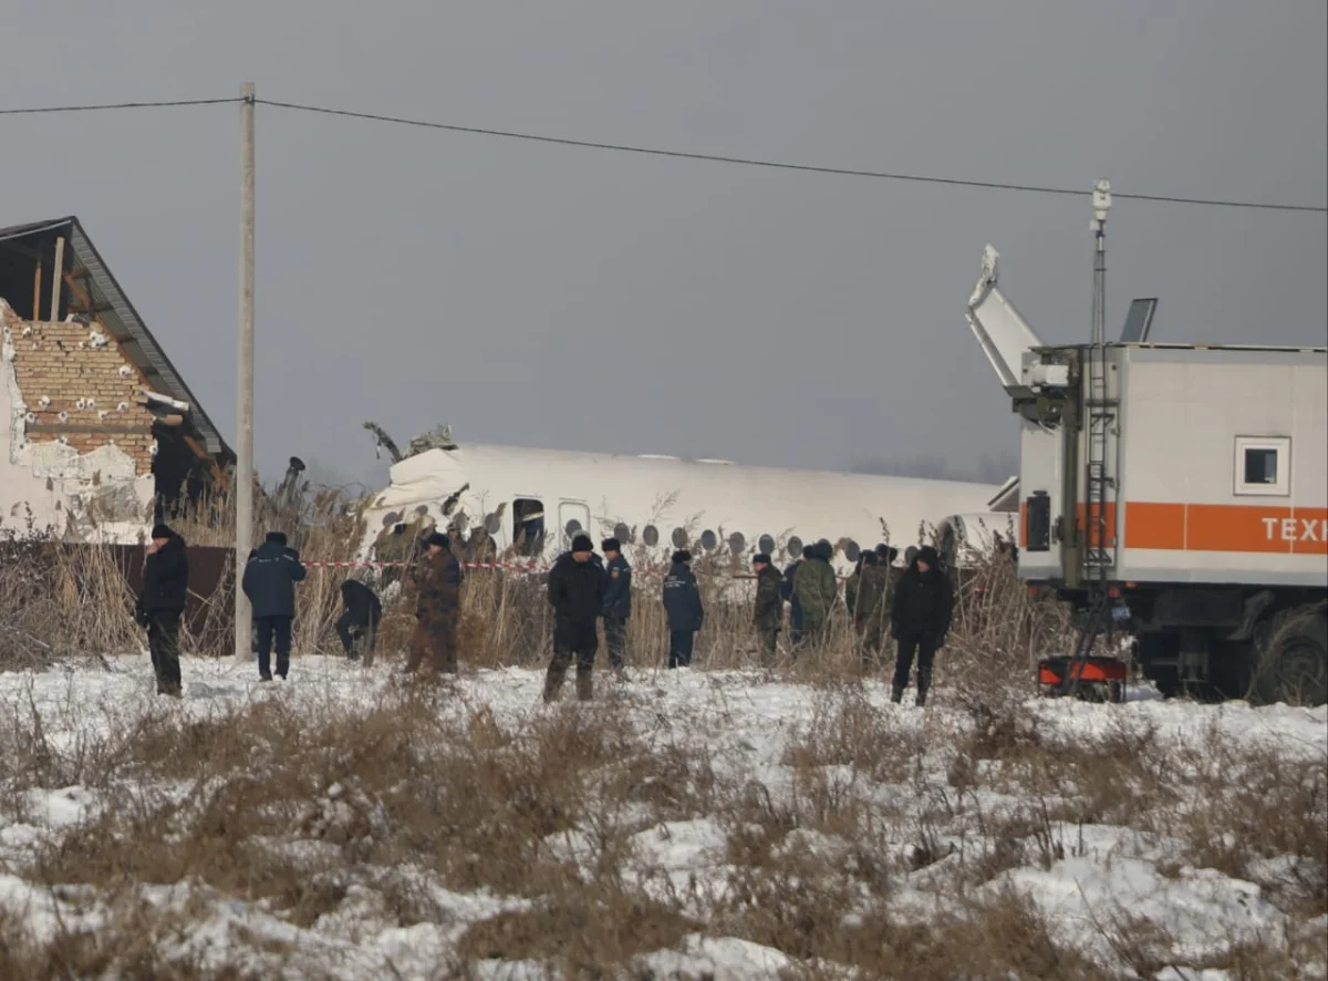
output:
[[1046, 346], [987, 247], [968, 322], [1023, 431], [1020, 576], [1129, 630], [1163, 694], [1323, 705], [1328, 348], [1147, 343], [1154, 307]]

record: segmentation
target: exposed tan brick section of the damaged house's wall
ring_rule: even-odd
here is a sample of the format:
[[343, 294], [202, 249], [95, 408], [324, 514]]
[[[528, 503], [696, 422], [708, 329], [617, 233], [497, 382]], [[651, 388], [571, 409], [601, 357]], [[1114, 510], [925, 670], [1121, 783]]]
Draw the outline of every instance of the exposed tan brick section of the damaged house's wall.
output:
[[[105, 328], [23, 320], [9, 308], [4, 310], [4, 326], [13, 346], [15, 380], [29, 413], [25, 439], [40, 444], [64, 437], [80, 455], [114, 445], [134, 461], [138, 476], [149, 475], [153, 413], [134, 403], [146, 383]], [[42, 425], [70, 431], [35, 431]]]

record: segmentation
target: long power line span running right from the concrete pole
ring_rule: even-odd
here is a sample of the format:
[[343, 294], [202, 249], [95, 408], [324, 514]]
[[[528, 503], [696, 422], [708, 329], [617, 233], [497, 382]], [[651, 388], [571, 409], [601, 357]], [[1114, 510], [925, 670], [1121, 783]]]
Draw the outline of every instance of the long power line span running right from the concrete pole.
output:
[[[645, 154], [651, 157], [672, 157], [675, 160], [697, 160], [709, 161], [712, 164], [738, 164], [741, 166], [749, 167], [765, 167], [769, 170], [797, 170], [809, 174], [834, 174], [838, 177], [872, 177], [883, 181], [911, 181], [915, 183], [940, 183], [954, 187], [983, 187], [987, 190], [1012, 190], [1012, 191], [1025, 191], [1031, 194], [1058, 194], [1058, 195], [1073, 195], [1076, 198], [1082, 198], [1088, 195], [1089, 191], [1084, 189], [1072, 187], [1048, 187], [1042, 185], [1032, 183], [1008, 183], [1001, 181], [965, 181], [956, 177], [931, 177], [926, 174], [903, 174], [891, 173], [886, 170], [857, 170], [853, 167], [830, 167], [830, 166], [817, 166], [813, 164], [788, 164], [782, 161], [772, 160], [758, 160], [754, 157], [729, 157], [722, 154], [712, 153], [693, 153], [689, 150], [663, 150], [652, 146], [633, 146], [629, 144], [604, 144], [592, 140], [572, 140], [568, 137], [550, 137], [538, 136], [534, 133], [517, 133], [513, 130], [503, 129], [487, 129], [483, 126], [458, 126], [448, 122], [428, 122], [424, 120], [409, 120], [400, 116], [380, 116], [377, 113], [359, 113], [349, 109], [327, 109], [315, 105], [300, 105], [297, 102], [278, 102], [274, 100], [259, 98], [256, 100], [262, 105], [270, 105], [278, 109], [295, 109], [297, 112], [305, 113], [320, 113], [323, 116], [343, 116], [355, 120], [372, 120], [374, 122], [394, 122], [402, 126], [418, 126], [422, 129], [444, 129], [452, 133], [470, 133], [475, 136], [493, 136], [503, 137], [506, 140], [526, 140], [538, 144], [556, 144], [559, 146], [579, 146], [591, 150], [614, 150], [618, 153], [636, 153]], [[1226, 201], [1219, 198], [1185, 198], [1169, 194], [1130, 194], [1130, 193], [1113, 193], [1117, 199], [1133, 199], [1133, 201], [1154, 201], [1166, 202], [1173, 205], [1207, 205], [1210, 207], [1247, 207], [1247, 209], [1260, 209], [1267, 211], [1311, 211], [1316, 214], [1328, 214], [1328, 207], [1321, 207], [1316, 205], [1272, 205], [1260, 201]]]

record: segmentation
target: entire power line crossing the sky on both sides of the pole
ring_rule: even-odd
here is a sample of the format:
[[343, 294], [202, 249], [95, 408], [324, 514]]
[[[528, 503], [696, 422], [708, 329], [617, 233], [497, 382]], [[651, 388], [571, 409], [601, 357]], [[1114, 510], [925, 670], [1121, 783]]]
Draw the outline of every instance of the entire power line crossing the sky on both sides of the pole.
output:
[[[61, 105], [40, 106], [32, 109], [0, 109], [0, 116], [40, 116], [46, 113], [81, 113], [104, 112], [116, 109], [161, 109], [170, 106], [201, 106], [226, 105], [244, 101], [240, 98], [182, 98], [153, 102], [108, 102], [97, 105]], [[491, 136], [505, 140], [522, 140], [535, 144], [552, 144], [556, 146], [576, 146], [590, 150], [610, 150], [615, 153], [635, 153], [647, 157], [665, 157], [672, 160], [705, 161], [710, 164], [733, 164], [748, 167], [762, 167], [766, 170], [790, 170], [806, 174], [830, 174], [835, 177], [869, 177], [880, 181], [907, 181], [912, 183], [932, 183], [950, 187], [979, 187], [984, 190], [1023, 191], [1027, 194], [1054, 194], [1060, 197], [1082, 198], [1086, 190], [1076, 187], [1052, 187], [1035, 183], [1012, 183], [1005, 181], [969, 181], [957, 177], [935, 177], [930, 174], [906, 174], [888, 170], [865, 170], [855, 167], [831, 167], [814, 164], [790, 164], [786, 161], [761, 160], [757, 157], [733, 157], [714, 153], [696, 153], [691, 150], [667, 150], [656, 146], [637, 146], [632, 144], [608, 144], [595, 140], [574, 140], [571, 137], [551, 137], [537, 133], [519, 133], [515, 130], [490, 129], [486, 126], [459, 126], [449, 122], [430, 122], [428, 120], [412, 120], [401, 116], [382, 116], [378, 113], [361, 113], [349, 109], [328, 109], [325, 106], [304, 105], [300, 102], [282, 102], [270, 98], [256, 98], [255, 104], [270, 105], [275, 109], [291, 109], [295, 112], [317, 113], [321, 116], [337, 116], [352, 120], [369, 120], [373, 122], [390, 122], [400, 126], [416, 126], [420, 129], [441, 129], [449, 133], [466, 133], [471, 136]], [[1231, 201], [1223, 198], [1190, 198], [1175, 194], [1135, 194], [1117, 191], [1113, 194], [1118, 201], [1149, 201], [1170, 205], [1202, 205], [1207, 207], [1242, 207], [1262, 211], [1300, 211], [1309, 214], [1328, 214], [1328, 207], [1320, 205], [1278, 205], [1263, 201]]]

